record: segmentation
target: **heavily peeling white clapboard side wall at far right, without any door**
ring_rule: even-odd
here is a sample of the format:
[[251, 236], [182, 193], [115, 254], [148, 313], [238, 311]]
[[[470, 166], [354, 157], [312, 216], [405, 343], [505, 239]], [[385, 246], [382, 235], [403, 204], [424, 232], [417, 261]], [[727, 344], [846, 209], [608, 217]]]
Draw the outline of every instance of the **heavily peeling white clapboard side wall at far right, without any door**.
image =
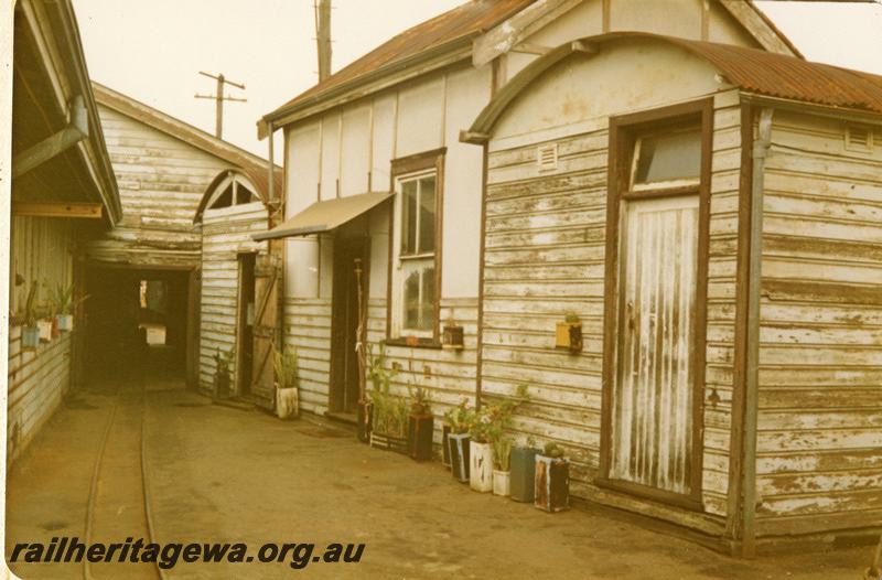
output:
[[882, 519], [882, 143], [776, 111], [766, 160], [761, 534]]

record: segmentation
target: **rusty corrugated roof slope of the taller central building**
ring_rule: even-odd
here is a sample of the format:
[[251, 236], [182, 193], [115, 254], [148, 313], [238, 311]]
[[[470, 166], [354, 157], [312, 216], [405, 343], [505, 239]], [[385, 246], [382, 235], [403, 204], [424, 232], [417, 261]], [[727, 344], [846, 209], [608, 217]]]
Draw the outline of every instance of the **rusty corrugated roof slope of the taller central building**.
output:
[[366, 73], [406, 61], [432, 49], [471, 39], [499, 24], [535, 1], [472, 0], [466, 2], [398, 34], [289, 100], [267, 115], [267, 118], [283, 114], [287, 109], [300, 105], [312, 97], [321, 97], [334, 88], [362, 77]]

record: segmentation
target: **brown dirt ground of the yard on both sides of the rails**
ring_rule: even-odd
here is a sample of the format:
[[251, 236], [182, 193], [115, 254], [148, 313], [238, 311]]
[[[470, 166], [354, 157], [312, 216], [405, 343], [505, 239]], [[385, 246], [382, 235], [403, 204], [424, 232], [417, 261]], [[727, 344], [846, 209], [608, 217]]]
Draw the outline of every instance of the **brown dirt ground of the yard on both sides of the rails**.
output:
[[[15, 543], [83, 537], [95, 457], [112, 401], [107, 390], [68, 401], [14, 465], [7, 554]], [[320, 561], [295, 570], [290, 558], [179, 562], [166, 578], [828, 580], [860, 578], [871, 552], [863, 547], [742, 561], [605, 512], [549, 515], [474, 493], [438, 463], [369, 449], [323, 421], [283, 422], [212, 405], [169, 385], [151, 387], [146, 412], [155, 540], [241, 541], [252, 551], [263, 543], [309, 543], [316, 545], [313, 554], [332, 543], [366, 545], [358, 563]], [[123, 475], [103, 485], [123, 485], [131, 480]], [[125, 503], [118, 513], [127, 509], [142, 506]], [[132, 566], [149, 565], [103, 565], [94, 572], [130, 577]], [[12, 569], [22, 578], [83, 577], [75, 563]]]

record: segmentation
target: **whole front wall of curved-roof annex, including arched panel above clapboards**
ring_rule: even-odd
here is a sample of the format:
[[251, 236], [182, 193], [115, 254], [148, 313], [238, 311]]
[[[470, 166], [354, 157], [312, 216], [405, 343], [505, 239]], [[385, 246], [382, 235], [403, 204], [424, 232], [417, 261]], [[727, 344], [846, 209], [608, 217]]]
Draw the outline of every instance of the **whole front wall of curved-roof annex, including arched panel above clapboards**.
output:
[[[665, 71], [665, 78], [647, 71]], [[708, 96], [714, 136], [704, 399], [713, 393], [719, 401], [704, 410], [702, 515], [592, 482], [601, 451], [609, 117]], [[546, 143], [557, 143], [559, 161], [540, 171], [537, 148]], [[499, 120], [488, 160], [482, 391], [510, 396], [518, 384], [531, 385], [517, 438], [560, 443], [572, 460], [574, 495], [716, 535], [729, 482], [740, 144], [738, 93], [721, 93], [703, 61], [637, 42], [549, 71]], [[555, 323], [568, 312], [579, 314], [585, 334], [574, 356], [555, 348]]]

